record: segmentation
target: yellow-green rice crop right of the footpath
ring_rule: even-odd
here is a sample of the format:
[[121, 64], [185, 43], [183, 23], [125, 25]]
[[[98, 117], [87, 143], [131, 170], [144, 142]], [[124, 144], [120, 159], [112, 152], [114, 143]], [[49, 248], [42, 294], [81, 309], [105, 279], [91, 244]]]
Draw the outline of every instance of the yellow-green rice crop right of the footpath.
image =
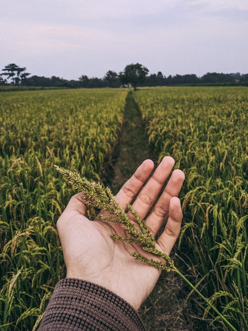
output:
[[179, 255], [202, 293], [247, 330], [248, 89], [154, 88], [134, 99], [158, 158], [173, 156], [186, 174]]

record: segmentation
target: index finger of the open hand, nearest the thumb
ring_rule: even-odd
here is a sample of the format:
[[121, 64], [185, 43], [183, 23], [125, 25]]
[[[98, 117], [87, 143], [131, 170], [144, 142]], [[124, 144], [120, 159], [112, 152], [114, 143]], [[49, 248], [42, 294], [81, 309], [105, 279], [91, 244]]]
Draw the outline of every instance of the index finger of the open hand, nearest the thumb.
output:
[[126, 204], [130, 203], [139, 193], [145, 181], [150, 176], [153, 167], [154, 163], [152, 160], [145, 160], [118, 192], [115, 199], [124, 209]]

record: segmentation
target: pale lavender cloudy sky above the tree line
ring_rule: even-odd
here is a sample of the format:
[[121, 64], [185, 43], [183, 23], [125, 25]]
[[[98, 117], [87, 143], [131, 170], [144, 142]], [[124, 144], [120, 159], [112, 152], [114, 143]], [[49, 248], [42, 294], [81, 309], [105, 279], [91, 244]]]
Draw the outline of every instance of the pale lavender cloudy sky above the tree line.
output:
[[248, 0], [0, 0], [0, 69], [248, 73]]

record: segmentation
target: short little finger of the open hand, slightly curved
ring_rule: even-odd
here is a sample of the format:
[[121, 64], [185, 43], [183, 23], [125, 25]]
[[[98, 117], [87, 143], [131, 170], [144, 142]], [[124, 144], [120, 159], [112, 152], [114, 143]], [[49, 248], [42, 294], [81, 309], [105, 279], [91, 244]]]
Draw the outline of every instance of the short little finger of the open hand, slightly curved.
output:
[[168, 221], [163, 233], [157, 240], [157, 244], [159, 245], [161, 252], [167, 255], [171, 253], [171, 250], [175, 245], [180, 233], [182, 219], [183, 212], [180, 199], [173, 197], [170, 200]]

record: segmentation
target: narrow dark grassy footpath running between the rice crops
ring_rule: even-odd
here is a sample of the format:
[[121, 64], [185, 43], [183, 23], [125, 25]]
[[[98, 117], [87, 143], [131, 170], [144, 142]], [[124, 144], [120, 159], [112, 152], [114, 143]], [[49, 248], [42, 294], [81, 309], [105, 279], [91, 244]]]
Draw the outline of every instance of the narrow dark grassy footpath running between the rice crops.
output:
[[[145, 159], [150, 158], [156, 164], [132, 92], [126, 98], [124, 124], [114, 158], [114, 177], [109, 183], [114, 194]], [[191, 323], [186, 321], [189, 312], [184, 303], [183, 297], [186, 294], [182, 293], [182, 285], [182, 280], [173, 272], [162, 273], [152, 294], [139, 311], [147, 330], [192, 330]]]

